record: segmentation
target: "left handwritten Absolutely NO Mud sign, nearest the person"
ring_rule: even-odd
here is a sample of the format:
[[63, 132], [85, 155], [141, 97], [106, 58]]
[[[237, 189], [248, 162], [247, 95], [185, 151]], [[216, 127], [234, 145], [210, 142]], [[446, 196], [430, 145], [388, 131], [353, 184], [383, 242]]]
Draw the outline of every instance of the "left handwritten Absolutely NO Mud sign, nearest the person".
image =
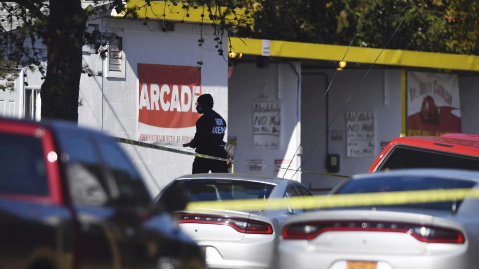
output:
[[278, 148], [281, 130], [279, 103], [253, 104], [253, 148]]

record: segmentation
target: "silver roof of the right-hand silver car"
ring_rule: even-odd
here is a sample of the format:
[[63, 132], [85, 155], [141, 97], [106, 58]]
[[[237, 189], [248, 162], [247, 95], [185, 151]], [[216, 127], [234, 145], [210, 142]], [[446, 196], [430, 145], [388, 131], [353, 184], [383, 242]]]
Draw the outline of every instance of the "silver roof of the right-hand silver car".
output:
[[357, 174], [352, 176], [352, 180], [360, 180], [364, 178], [384, 178], [391, 176], [428, 176], [428, 177], [442, 177], [442, 178], [454, 178], [465, 179], [479, 182], [479, 172], [471, 170], [459, 170], [459, 169], [440, 169], [440, 168], [420, 168], [420, 169], [397, 169], [390, 171], [379, 171], [367, 174]]

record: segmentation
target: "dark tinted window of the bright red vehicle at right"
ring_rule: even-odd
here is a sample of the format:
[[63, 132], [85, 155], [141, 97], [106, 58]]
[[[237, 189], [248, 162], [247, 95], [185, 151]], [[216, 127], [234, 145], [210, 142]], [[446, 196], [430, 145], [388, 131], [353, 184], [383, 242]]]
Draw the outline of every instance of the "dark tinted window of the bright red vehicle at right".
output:
[[453, 168], [479, 170], [479, 158], [437, 150], [398, 145], [391, 149], [378, 171], [401, 168]]

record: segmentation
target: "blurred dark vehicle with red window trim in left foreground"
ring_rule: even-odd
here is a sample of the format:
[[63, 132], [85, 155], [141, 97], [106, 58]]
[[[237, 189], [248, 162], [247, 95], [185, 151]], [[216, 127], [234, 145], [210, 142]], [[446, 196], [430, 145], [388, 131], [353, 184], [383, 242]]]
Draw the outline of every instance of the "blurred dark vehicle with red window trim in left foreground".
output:
[[0, 268], [205, 268], [109, 136], [0, 119]]

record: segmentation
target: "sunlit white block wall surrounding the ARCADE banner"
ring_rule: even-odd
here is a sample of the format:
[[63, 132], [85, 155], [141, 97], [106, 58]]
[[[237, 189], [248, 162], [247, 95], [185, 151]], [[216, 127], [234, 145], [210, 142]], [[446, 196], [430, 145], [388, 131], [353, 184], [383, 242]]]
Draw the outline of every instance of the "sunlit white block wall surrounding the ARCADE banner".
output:
[[[202, 49], [198, 46], [199, 25], [176, 23], [173, 31], [163, 32], [158, 21], [149, 21], [149, 28], [136, 20], [99, 18], [91, 21], [95, 22], [100, 24], [101, 29], [114, 30], [122, 36], [126, 72], [124, 78], [108, 77], [106, 60], [84, 53], [84, 61], [94, 71], [102, 70], [103, 76], [82, 75], [79, 125], [138, 140], [138, 63], [197, 66], [200, 60], [204, 63], [201, 70], [202, 93], [213, 96], [214, 110], [228, 121], [227, 55], [225, 58], [218, 55], [210, 25], [203, 28], [205, 44]], [[223, 49], [227, 53], [227, 38], [224, 43]], [[175, 177], [191, 173], [192, 156], [126, 144], [123, 147], [145, 177], [153, 195]]]

